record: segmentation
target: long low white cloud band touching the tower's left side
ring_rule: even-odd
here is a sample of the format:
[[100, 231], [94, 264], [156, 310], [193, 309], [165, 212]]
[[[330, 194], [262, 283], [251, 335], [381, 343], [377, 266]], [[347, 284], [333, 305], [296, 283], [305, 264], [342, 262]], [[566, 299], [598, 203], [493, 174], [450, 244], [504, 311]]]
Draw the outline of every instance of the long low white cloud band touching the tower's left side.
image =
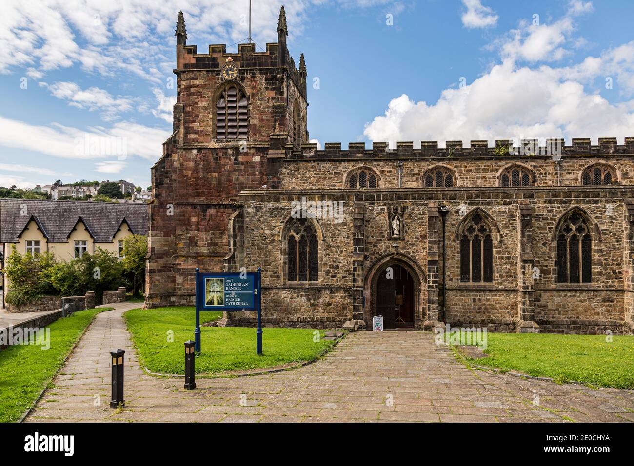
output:
[[[28, 134], [25, 138], [23, 135]], [[134, 122], [117, 122], [110, 128], [51, 124], [32, 125], [0, 116], [0, 146], [32, 150], [62, 159], [142, 157], [158, 160], [169, 131]], [[123, 150], [121, 150], [123, 149]]]

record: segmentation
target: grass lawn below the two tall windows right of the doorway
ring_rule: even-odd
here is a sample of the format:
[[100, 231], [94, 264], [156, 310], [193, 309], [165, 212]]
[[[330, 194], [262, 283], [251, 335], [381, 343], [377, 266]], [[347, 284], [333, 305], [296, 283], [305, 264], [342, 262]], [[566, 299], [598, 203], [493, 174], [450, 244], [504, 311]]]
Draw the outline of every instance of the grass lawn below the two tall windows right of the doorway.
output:
[[598, 387], [634, 388], [634, 337], [488, 333], [489, 356], [469, 361], [556, 382], [576, 381]]

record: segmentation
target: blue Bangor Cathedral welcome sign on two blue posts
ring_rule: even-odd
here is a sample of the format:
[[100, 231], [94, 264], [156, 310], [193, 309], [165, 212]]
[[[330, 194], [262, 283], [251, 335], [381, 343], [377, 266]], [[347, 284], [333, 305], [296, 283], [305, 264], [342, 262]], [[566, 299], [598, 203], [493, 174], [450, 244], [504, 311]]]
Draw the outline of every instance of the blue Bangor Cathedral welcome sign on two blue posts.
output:
[[262, 354], [262, 269], [201, 272], [196, 269], [195, 351], [200, 353], [200, 311], [257, 311], [256, 354]]

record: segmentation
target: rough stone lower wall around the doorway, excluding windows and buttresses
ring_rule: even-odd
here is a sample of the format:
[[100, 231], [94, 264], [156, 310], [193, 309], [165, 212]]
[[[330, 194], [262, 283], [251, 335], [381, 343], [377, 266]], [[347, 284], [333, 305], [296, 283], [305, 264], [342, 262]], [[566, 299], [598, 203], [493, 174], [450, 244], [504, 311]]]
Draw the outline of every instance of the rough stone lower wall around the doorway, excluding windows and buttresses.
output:
[[[316, 194], [318, 193], [318, 194]], [[290, 212], [290, 202], [302, 196], [308, 200], [342, 200], [346, 205], [365, 205], [365, 273], [382, 257], [400, 254], [417, 264], [427, 261], [427, 210], [436, 203], [446, 205], [446, 309], [444, 320], [453, 325], [486, 325], [489, 330], [514, 331], [520, 320], [518, 307], [518, 216], [519, 204], [524, 212], [531, 212], [533, 264], [539, 270], [538, 278], [531, 280], [536, 323], [543, 325], [542, 332], [597, 333], [623, 327], [624, 280], [623, 280], [623, 209], [624, 199], [634, 195], [632, 190], [621, 186], [614, 188], [588, 188], [553, 191], [545, 188], [508, 188], [493, 190], [474, 188], [444, 190], [404, 190], [395, 195], [389, 190], [337, 190], [337, 191], [269, 191], [259, 194], [244, 191], [240, 195], [245, 205], [245, 264], [255, 268], [262, 264], [264, 287], [280, 288], [275, 299], [283, 295], [288, 302], [297, 302], [299, 297], [314, 294], [314, 285], [290, 288], [281, 276], [281, 231]], [[431, 203], [431, 204], [430, 204]], [[387, 236], [387, 207], [404, 207], [405, 239]], [[612, 207], [607, 207], [611, 205]], [[593, 238], [593, 281], [578, 285], [555, 283], [555, 243], [553, 231], [562, 215], [577, 206], [583, 209], [598, 226], [600, 235]], [[493, 242], [493, 283], [460, 282], [460, 243], [456, 231], [463, 219], [462, 212], [469, 216], [473, 209], [481, 209], [491, 219], [495, 232]], [[353, 222], [346, 214], [344, 222], [319, 219], [325, 232], [325, 242], [320, 243], [321, 270], [318, 288], [342, 287], [343, 295], [353, 292]], [[499, 231], [499, 235], [498, 232]], [[334, 234], [333, 234], [334, 233]], [[441, 238], [439, 238], [439, 242]], [[439, 249], [441, 255], [441, 249]], [[267, 271], [269, 269], [269, 271]], [[442, 280], [442, 274], [441, 278]], [[427, 283], [424, 283], [424, 286]], [[294, 285], [297, 286], [297, 285]], [[529, 288], [531, 289], [531, 288]], [[323, 291], [323, 290], [322, 290]], [[272, 291], [265, 291], [264, 296]], [[293, 297], [295, 296], [295, 298]], [[314, 312], [337, 303], [339, 319], [349, 317], [349, 307], [341, 302], [341, 295], [319, 295]], [[271, 294], [271, 303], [273, 301]], [[304, 301], [301, 301], [304, 302]], [[352, 302], [349, 303], [353, 304]], [[367, 303], [366, 303], [367, 304]], [[275, 311], [288, 325], [287, 309], [276, 302]], [[297, 306], [301, 309], [306, 307]], [[304, 313], [305, 311], [302, 311]], [[283, 317], [284, 316], [284, 317]], [[320, 317], [321, 318], [321, 317]], [[298, 320], [298, 322], [301, 320]], [[325, 319], [323, 321], [326, 321]], [[571, 330], [574, 329], [574, 330]]]

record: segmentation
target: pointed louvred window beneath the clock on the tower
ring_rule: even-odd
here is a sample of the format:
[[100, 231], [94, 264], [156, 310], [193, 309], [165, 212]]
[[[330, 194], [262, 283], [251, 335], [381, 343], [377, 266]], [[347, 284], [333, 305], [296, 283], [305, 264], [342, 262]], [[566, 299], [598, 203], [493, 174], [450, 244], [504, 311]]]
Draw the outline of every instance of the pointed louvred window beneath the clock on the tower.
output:
[[247, 139], [249, 101], [238, 86], [223, 89], [216, 101], [216, 139]]

